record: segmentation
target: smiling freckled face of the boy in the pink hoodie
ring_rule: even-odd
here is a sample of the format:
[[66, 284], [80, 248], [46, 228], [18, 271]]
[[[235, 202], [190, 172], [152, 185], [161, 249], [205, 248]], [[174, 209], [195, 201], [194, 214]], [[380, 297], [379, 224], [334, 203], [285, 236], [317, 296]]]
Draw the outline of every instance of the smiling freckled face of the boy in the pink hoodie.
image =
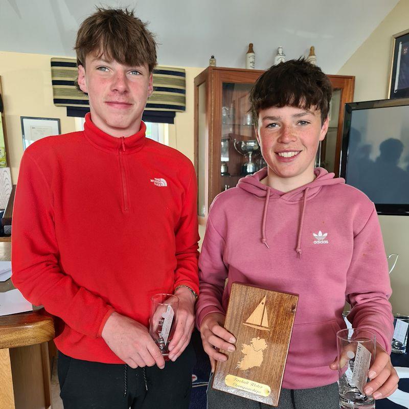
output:
[[319, 142], [328, 130], [328, 118], [321, 125], [320, 110], [293, 106], [261, 109], [258, 118], [257, 140], [269, 172], [293, 178], [299, 186], [308, 183]]

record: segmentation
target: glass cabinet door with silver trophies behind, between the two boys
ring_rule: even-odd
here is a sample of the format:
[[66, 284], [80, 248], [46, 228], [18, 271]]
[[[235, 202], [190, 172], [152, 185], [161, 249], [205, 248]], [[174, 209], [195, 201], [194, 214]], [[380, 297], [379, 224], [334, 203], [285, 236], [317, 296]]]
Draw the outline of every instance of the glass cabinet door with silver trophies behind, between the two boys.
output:
[[220, 192], [265, 166], [248, 100], [252, 87], [253, 84], [222, 83]]

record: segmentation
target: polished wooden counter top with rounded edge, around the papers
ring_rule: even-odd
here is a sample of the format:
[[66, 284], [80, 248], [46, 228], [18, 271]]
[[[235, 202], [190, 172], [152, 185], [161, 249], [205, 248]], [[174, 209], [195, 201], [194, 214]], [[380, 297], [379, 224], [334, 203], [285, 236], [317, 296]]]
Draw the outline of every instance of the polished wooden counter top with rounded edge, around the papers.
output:
[[[10, 261], [11, 243], [0, 242], [0, 260]], [[0, 283], [0, 292], [13, 289], [11, 280]], [[54, 319], [43, 308], [0, 316], [0, 348], [40, 344], [54, 338]]]

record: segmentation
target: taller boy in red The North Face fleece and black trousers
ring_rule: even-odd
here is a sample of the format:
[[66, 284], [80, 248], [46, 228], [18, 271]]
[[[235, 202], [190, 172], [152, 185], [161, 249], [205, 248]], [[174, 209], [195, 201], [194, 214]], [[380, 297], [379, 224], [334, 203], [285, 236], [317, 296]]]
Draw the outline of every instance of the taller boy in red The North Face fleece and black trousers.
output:
[[[13, 283], [63, 321], [55, 344], [65, 409], [188, 408], [196, 176], [188, 158], [145, 137], [156, 44], [132, 12], [98, 9], [75, 49], [90, 114], [83, 132], [24, 153]], [[179, 297], [166, 366], [147, 329], [159, 292]]]

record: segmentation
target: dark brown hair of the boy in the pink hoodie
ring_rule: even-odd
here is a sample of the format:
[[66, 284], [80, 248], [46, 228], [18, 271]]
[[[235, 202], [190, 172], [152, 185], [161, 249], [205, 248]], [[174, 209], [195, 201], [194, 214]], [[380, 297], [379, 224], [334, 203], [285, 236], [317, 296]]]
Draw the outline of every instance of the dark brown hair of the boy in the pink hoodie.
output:
[[299, 58], [273, 65], [263, 73], [250, 93], [253, 123], [257, 126], [260, 109], [296, 106], [321, 111], [321, 123], [328, 117], [332, 85], [320, 67]]

